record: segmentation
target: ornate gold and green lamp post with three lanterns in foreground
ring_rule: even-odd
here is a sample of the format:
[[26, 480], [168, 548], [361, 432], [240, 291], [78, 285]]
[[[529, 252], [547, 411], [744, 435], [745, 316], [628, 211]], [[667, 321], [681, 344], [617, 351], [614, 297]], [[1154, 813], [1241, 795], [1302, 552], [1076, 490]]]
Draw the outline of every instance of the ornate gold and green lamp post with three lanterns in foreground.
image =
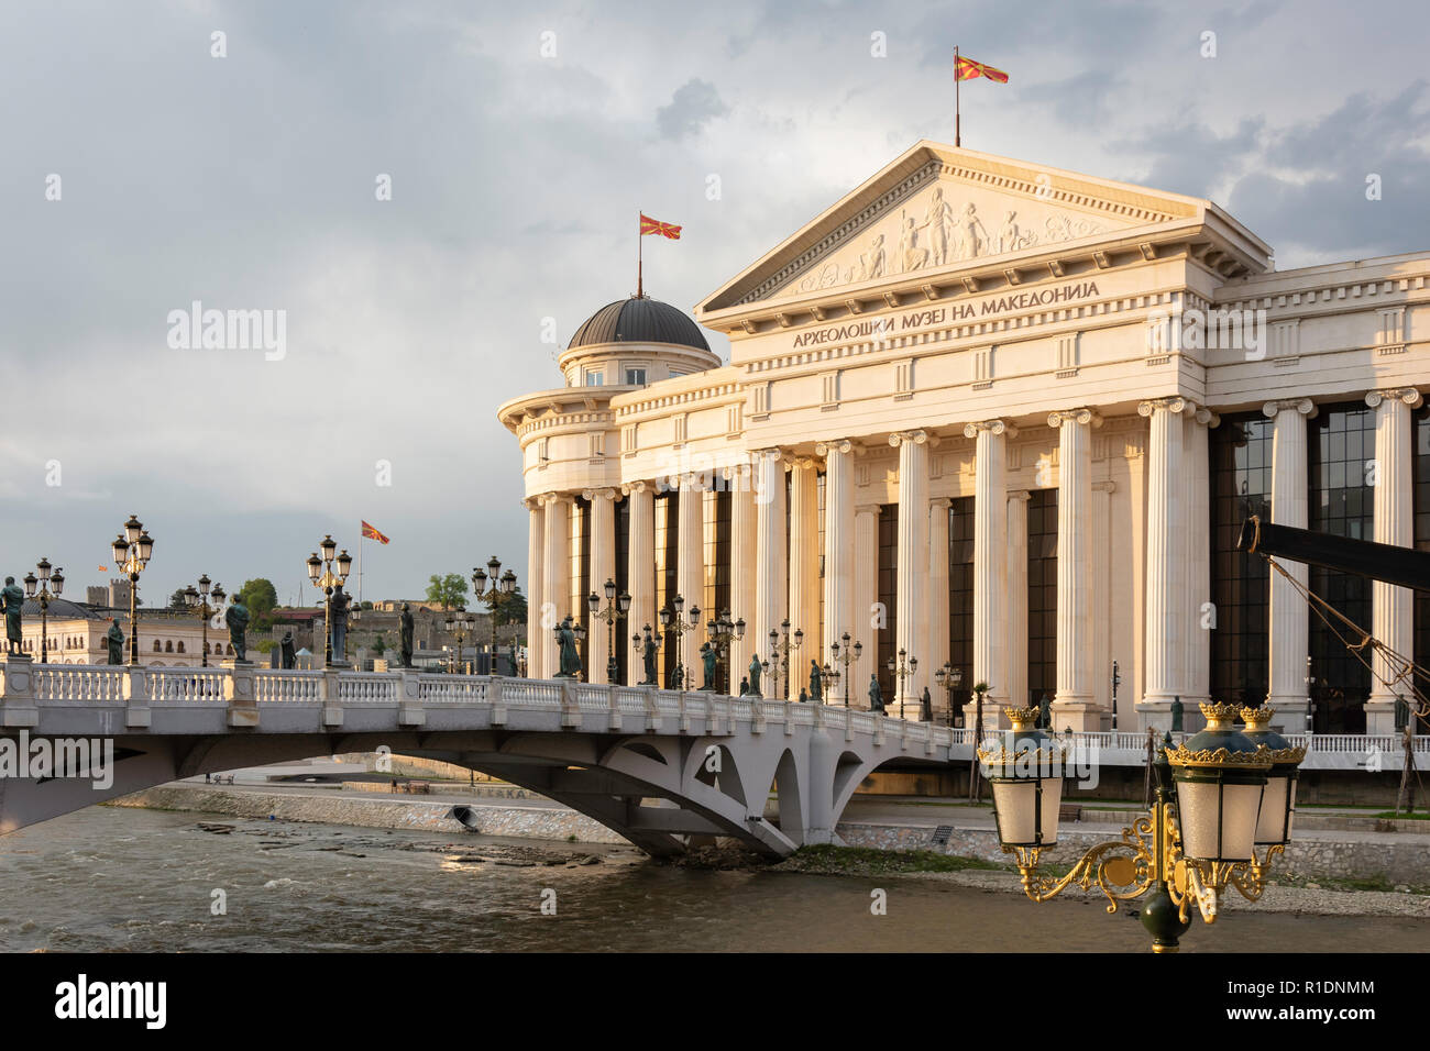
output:
[[[1227, 887], [1248, 901], [1261, 897], [1271, 861], [1291, 837], [1296, 772], [1306, 749], [1268, 729], [1273, 709], [1208, 704], [1201, 712], [1207, 728], [1190, 741], [1174, 748], [1170, 734], [1163, 738], [1153, 764], [1151, 814], [1057, 878], [1041, 874], [1038, 864], [1057, 844], [1064, 745], [1035, 729], [1037, 708], [1008, 709], [1012, 729], [980, 745], [978, 761], [992, 784], [998, 841], [1015, 857], [1032, 901], [1048, 901], [1074, 884], [1097, 887], [1107, 911], [1115, 912], [1145, 895], [1141, 922], [1153, 951], [1175, 952], [1191, 927], [1193, 905], [1211, 924]], [[1247, 719], [1246, 732], [1234, 725], [1238, 714]]]

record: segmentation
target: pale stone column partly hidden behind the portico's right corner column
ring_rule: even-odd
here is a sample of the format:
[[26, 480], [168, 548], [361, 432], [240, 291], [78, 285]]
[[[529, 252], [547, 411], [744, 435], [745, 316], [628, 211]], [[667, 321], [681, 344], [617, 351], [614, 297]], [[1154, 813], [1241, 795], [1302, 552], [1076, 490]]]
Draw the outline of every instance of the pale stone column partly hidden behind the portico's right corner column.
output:
[[1187, 651], [1183, 658], [1181, 704], [1187, 712], [1211, 699], [1211, 465], [1208, 429], [1221, 418], [1210, 409], [1185, 416], [1187, 500]]

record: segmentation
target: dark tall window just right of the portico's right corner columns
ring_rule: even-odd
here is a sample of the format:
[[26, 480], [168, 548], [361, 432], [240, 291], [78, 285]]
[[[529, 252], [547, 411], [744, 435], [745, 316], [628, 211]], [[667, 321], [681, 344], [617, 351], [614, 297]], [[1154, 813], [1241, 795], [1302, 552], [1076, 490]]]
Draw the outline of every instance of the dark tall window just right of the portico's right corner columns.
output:
[[1237, 551], [1241, 523], [1271, 518], [1273, 423], [1261, 413], [1224, 416], [1211, 430], [1211, 698], [1256, 705], [1271, 688], [1271, 568]]

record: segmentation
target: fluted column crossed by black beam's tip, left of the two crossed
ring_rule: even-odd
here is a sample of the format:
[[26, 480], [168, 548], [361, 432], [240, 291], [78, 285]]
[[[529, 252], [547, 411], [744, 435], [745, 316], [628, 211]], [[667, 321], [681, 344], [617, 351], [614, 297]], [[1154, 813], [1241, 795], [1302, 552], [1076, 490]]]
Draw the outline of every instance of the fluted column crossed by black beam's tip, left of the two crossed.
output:
[[[1267, 402], [1261, 409], [1273, 420], [1271, 520], [1304, 529], [1307, 523], [1306, 420], [1316, 415], [1310, 398]], [[1304, 562], [1280, 562], [1303, 588]], [[1306, 726], [1306, 655], [1310, 652], [1310, 609], [1290, 581], [1271, 573], [1271, 689], [1267, 704], [1276, 724], [1301, 731]]]

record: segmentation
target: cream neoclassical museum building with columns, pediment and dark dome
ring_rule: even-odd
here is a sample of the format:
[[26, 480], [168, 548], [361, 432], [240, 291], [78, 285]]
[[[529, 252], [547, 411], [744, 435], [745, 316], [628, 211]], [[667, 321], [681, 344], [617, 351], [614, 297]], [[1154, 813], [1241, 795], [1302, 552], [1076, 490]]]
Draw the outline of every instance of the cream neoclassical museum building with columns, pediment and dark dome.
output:
[[[631, 684], [632, 635], [659, 636], [679, 595], [701, 623], [665, 635], [662, 684], [729, 611], [746, 628], [721, 689], [788, 621], [791, 698], [817, 661], [844, 672], [827, 704], [867, 708], [874, 675], [891, 714], [927, 686], [940, 721], [987, 682], [998, 705], [1048, 698], [1057, 729], [1164, 726], [1177, 699], [1193, 728], [1211, 698], [1390, 732], [1394, 691], [1298, 588], [1421, 662], [1430, 605], [1298, 563], [1281, 578], [1236, 541], [1256, 513], [1430, 548], [1427, 279], [1430, 253], [1277, 270], [1210, 200], [921, 142], [694, 319], [601, 307], [562, 386], [500, 406], [543, 611], [531, 673], [558, 671], [551, 626], [572, 615], [606, 679], [612, 632], [585, 596], [612, 579]], [[901, 652], [912, 675], [888, 671]]]

